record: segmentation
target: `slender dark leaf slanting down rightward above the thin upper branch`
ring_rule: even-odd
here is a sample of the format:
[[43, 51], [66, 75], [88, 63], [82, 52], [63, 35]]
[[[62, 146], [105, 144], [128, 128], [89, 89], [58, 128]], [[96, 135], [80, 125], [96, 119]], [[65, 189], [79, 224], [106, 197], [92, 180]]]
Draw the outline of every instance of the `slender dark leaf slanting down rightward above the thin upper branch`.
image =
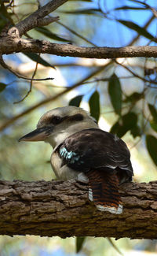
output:
[[155, 37], [153, 35], [151, 35], [149, 32], [147, 32], [147, 30], [145, 28], [141, 28], [136, 23], [134, 23], [132, 21], [128, 21], [128, 20], [117, 20], [117, 21], [119, 21], [121, 24], [123, 24], [127, 28], [133, 29], [138, 34], [143, 35], [145, 38], [150, 39], [150, 40], [156, 42], [156, 39], [155, 39]]

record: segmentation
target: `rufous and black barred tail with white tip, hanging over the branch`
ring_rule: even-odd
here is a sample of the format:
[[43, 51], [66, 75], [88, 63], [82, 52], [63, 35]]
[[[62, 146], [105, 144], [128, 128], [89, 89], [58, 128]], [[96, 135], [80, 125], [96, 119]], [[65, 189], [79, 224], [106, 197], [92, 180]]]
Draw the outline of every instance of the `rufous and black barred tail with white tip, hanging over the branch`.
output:
[[122, 201], [119, 195], [119, 179], [114, 172], [90, 171], [89, 200], [97, 206], [97, 210], [121, 214]]

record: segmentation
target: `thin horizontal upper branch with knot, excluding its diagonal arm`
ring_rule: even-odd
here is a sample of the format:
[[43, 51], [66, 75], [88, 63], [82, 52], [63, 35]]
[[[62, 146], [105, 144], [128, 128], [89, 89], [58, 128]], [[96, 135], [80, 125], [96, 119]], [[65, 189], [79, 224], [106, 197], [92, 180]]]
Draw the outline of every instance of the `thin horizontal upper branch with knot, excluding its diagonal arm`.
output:
[[12, 28], [12, 37], [0, 39], [0, 54], [19, 52], [55, 54], [79, 58], [134, 58], [157, 57], [157, 46], [126, 47], [80, 47], [70, 44], [50, 43], [45, 40], [21, 39], [16, 27]]

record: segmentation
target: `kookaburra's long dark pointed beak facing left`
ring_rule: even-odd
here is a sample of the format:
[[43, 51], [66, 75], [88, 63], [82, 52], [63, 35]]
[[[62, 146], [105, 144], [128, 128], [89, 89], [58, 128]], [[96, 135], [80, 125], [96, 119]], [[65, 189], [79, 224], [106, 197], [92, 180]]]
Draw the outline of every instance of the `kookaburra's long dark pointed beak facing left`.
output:
[[19, 139], [20, 141], [44, 141], [53, 132], [53, 127], [37, 128]]

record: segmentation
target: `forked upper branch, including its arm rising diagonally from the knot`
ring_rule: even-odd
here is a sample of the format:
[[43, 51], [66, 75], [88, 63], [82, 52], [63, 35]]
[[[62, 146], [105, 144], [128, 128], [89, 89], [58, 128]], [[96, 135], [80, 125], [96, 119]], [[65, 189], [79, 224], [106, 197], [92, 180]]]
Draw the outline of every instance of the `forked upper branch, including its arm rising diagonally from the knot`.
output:
[[[126, 47], [79, 47], [69, 44], [50, 43], [45, 40], [23, 39], [22, 35], [32, 28], [43, 26], [54, 21], [46, 17], [68, 0], [52, 0], [42, 6], [35, 13], [21, 20], [9, 31], [1, 33], [0, 54], [18, 52], [55, 54], [80, 58], [133, 58], [157, 57], [157, 46], [126, 46]], [[59, 17], [56, 17], [58, 19]], [[156, 39], [154, 39], [156, 41]]]

